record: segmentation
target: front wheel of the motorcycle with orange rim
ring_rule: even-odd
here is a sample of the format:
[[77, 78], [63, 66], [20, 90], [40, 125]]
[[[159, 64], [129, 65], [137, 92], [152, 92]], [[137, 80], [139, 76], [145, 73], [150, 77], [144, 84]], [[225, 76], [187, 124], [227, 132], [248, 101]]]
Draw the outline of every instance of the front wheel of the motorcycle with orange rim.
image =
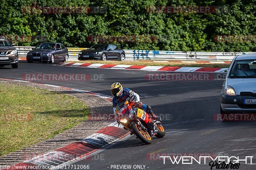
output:
[[145, 132], [140, 128], [137, 123], [131, 125], [132, 132], [145, 144], [151, 144], [152, 138], [148, 132]]

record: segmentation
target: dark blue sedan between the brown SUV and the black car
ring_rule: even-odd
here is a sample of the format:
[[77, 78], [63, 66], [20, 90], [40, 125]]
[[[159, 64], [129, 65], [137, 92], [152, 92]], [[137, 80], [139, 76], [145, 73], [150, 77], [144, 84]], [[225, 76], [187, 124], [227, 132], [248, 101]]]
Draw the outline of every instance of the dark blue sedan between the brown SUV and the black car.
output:
[[54, 61], [68, 61], [68, 49], [61, 43], [41, 43], [27, 54], [28, 63], [33, 61], [54, 63]]

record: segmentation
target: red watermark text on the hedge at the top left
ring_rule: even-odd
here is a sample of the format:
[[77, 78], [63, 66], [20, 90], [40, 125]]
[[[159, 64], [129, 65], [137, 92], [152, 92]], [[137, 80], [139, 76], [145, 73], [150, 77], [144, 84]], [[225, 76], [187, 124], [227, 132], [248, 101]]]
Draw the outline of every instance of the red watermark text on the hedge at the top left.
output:
[[27, 14], [104, 14], [106, 9], [100, 6], [25, 6]]

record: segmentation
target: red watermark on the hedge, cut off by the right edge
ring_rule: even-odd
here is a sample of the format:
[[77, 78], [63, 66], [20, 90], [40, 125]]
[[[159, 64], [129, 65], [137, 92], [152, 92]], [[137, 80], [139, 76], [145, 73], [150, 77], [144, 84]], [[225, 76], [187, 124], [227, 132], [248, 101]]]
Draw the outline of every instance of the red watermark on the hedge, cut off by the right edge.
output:
[[214, 42], [244, 43], [256, 42], [256, 35], [214, 35]]

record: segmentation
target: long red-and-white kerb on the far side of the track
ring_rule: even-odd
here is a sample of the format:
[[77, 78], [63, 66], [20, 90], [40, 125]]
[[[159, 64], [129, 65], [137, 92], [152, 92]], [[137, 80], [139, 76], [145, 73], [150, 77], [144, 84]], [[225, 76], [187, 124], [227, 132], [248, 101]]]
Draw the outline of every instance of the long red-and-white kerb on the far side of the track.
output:
[[115, 65], [98, 63], [59, 63], [56, 66], [66, 67], [87, 67], [104, 69], [125, 69], [125, 70], [145, 70], [145, 71], [175, 71], [175, 72], [227, 72], [228, 68], [204, 68], [204, 67], [168, 67], [168, 66], [143, 66], [143, 65]]

